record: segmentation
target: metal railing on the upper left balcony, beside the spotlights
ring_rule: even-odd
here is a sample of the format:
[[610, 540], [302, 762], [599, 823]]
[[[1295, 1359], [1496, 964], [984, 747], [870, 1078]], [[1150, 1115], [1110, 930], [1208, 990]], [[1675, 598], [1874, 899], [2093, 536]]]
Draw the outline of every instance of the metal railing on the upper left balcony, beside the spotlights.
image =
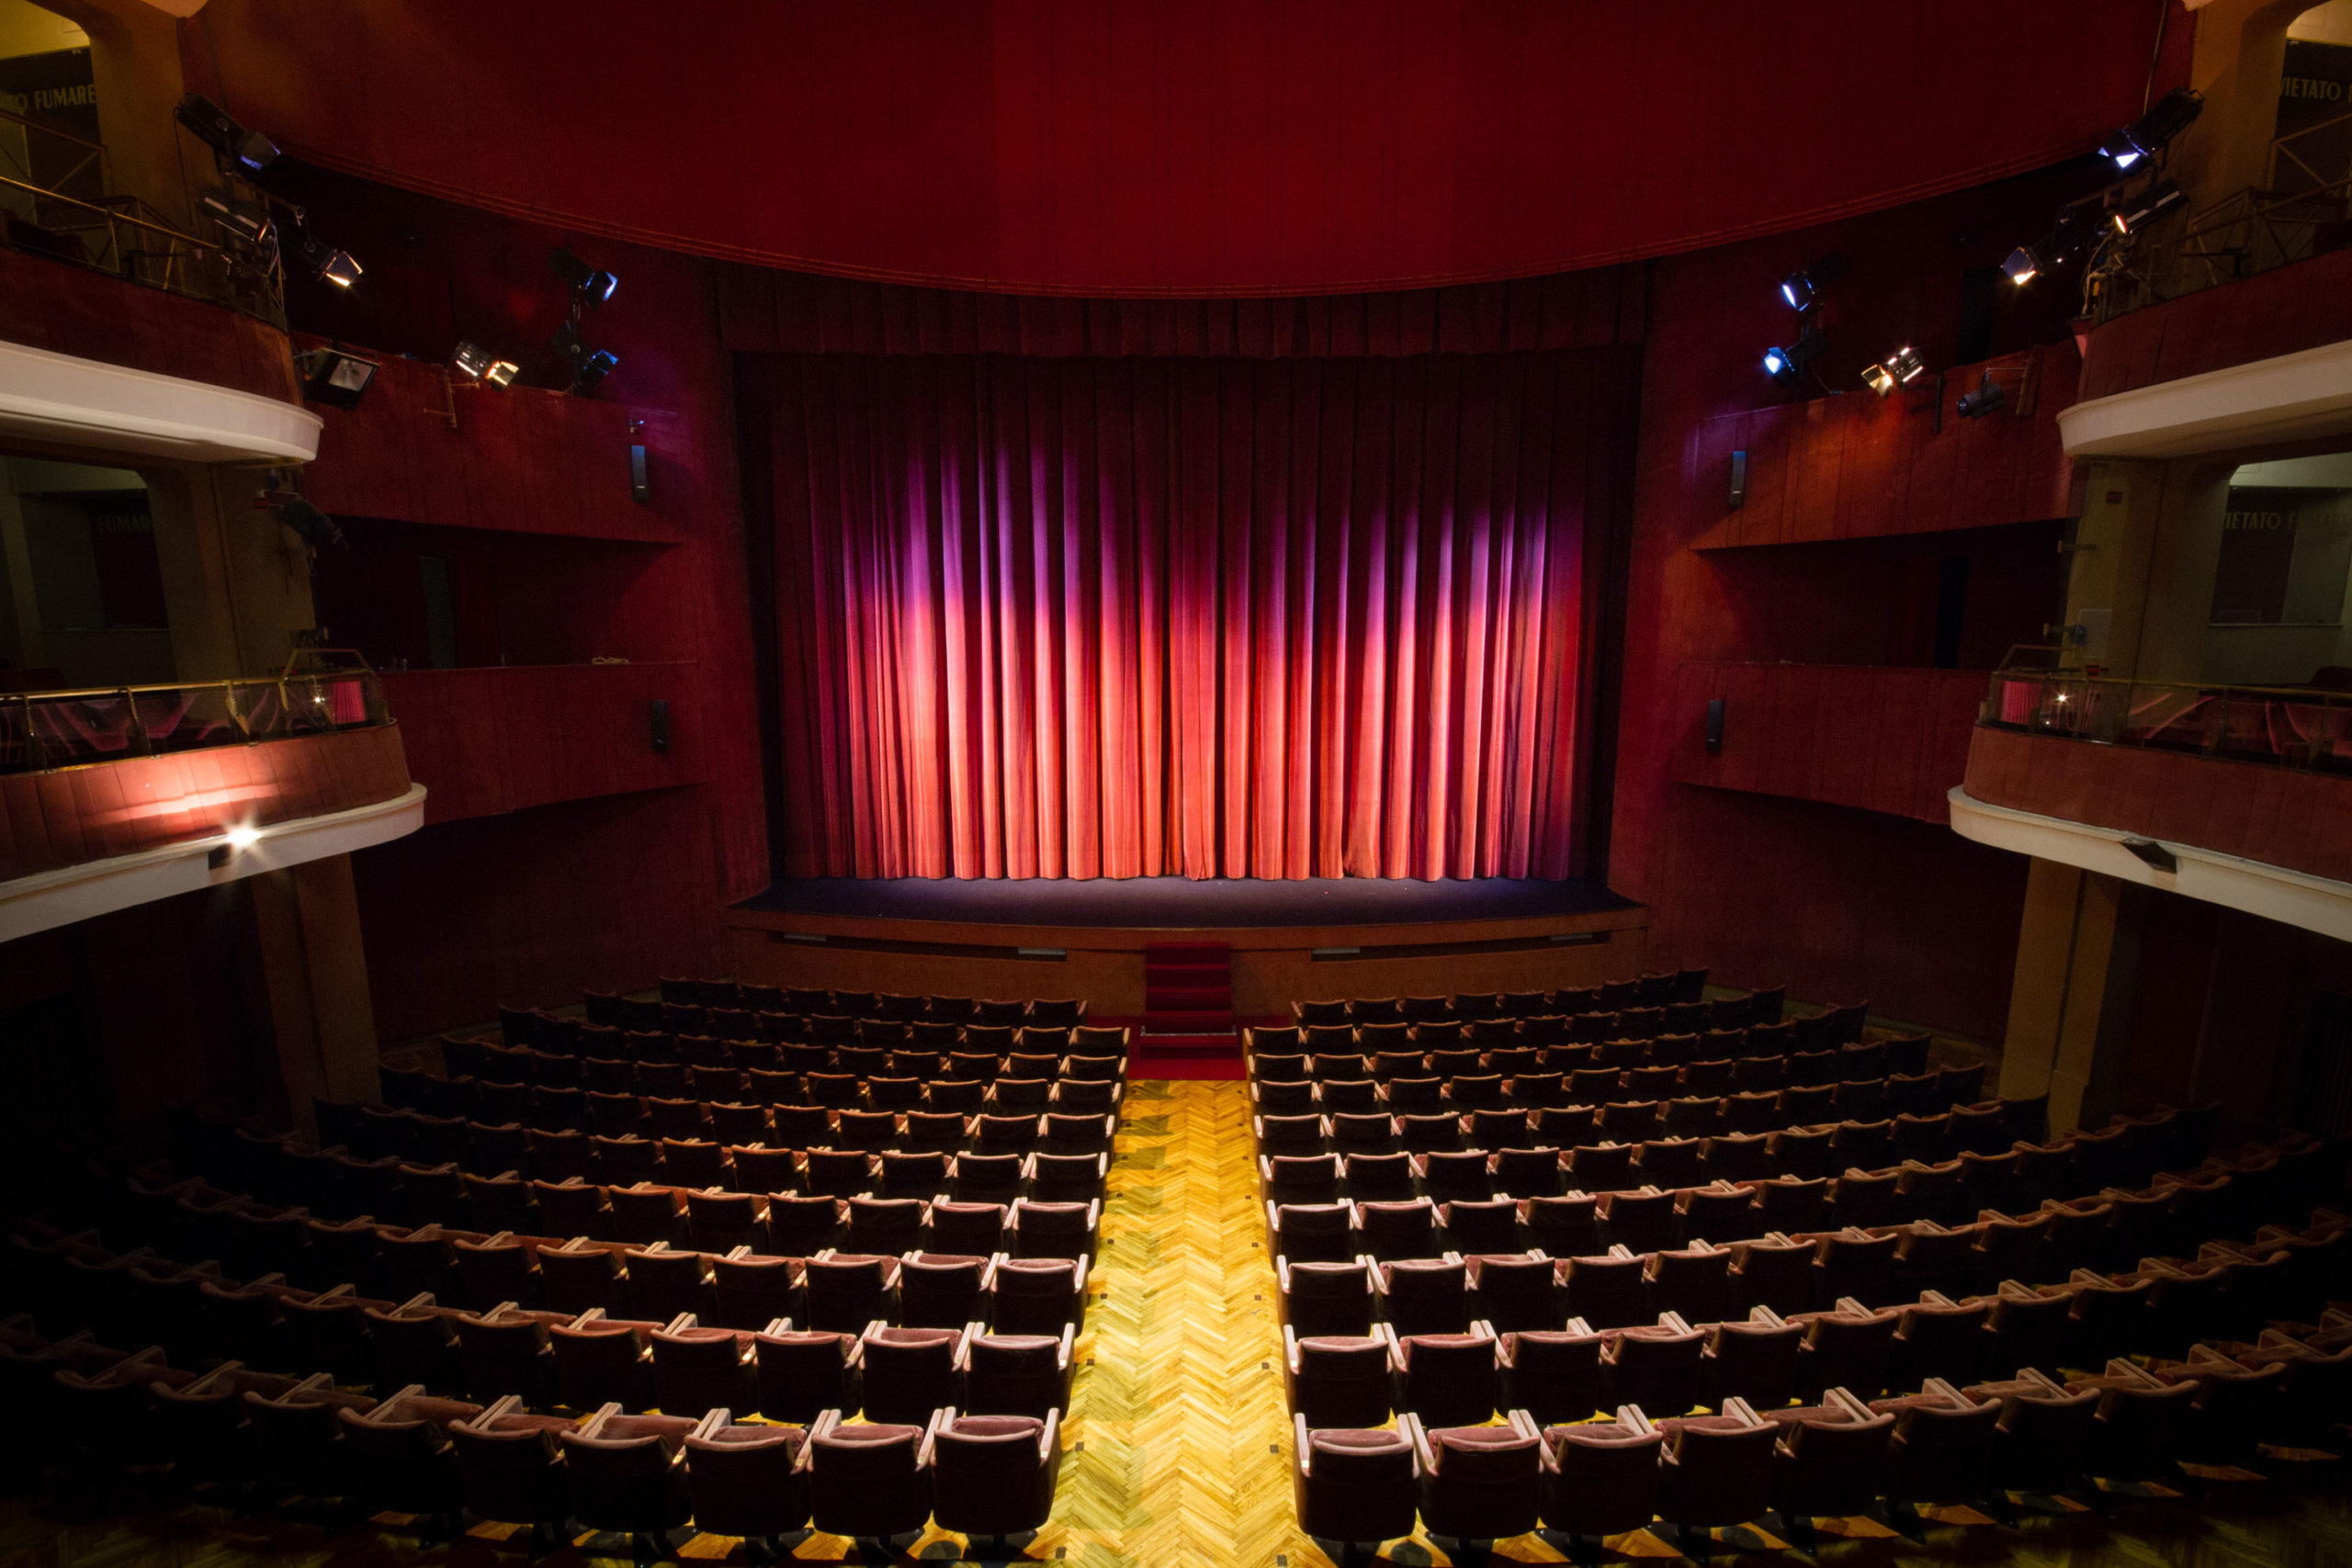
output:
[[9, 110], [0, 110], [0, 242], [287, 324], [275, 254], [172, 228], [136, 195], [115, 193], [101, 143]]

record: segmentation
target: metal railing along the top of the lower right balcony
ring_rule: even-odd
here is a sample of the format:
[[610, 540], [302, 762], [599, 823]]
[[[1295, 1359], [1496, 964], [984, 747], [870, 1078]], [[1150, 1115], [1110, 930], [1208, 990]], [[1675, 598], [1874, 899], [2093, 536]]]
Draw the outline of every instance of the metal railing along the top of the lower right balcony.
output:
[[1997, 670], [1978, 724], [2098, 745], [2352, 773], [2352, 691]]

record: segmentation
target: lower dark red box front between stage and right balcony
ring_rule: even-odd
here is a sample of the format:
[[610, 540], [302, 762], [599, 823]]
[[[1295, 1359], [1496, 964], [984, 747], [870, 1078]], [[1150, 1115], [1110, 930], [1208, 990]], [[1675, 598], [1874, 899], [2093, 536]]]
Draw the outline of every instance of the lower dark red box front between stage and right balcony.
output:
[[[1675, 783], [1945, 823], [1983, 689], [1980, 670], [1684, 663]], [[1710, 750], [1717, 701], [1722, 741]]]

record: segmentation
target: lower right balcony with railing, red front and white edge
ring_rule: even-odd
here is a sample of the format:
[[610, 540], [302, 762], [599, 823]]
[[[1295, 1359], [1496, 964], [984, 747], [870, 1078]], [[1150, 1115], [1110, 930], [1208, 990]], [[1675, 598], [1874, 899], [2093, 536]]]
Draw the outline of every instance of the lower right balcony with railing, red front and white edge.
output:
[[2352, 938], [2352, 693], [1990, 679], [1964, 837]]

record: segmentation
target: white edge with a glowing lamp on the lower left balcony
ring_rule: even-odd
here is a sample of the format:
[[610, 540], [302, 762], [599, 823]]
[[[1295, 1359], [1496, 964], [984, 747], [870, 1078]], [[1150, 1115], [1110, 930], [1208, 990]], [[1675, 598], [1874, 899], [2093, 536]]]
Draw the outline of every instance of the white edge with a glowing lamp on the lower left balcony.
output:
[[[0, 943], [19, 936], [71, 926], [92, 914], [111, 914], [132, 905], [193, 893], [223, 882], [238, 882], [256, 872], [275, 872], [303, 860], [343, 856], [369, 844], [388, 844], [412, 835], [426, 823], [426, 788], [412, 783], [407, 795], [381, 799], [369, 806], [327, 811], [325, 816], [299, 816], [287, 823], [256, 827], [249, 844], [230, 846], [228, 835], [141, 849], [111, 860], [85, 860], [61, 865], [54, 872], [35, 872], [0, 882]], [[214, 851], [226, 851], [214, 865]]]

